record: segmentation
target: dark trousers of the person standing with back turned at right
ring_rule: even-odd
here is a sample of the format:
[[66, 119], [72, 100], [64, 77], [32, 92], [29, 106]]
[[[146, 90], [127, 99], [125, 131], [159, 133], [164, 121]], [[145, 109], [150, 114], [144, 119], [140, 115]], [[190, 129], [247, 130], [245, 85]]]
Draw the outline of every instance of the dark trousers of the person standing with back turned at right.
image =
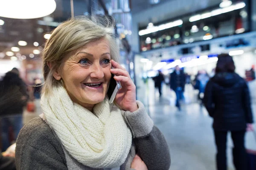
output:
[[[214, 131], [215, 144], [217, 147], [217, 170], [227, 170], [227, 131]], [[244, 147], [245, 130], [231, 131], [234, 144], [233, 164], [236, 170], [247, 170], [247, 154]]]

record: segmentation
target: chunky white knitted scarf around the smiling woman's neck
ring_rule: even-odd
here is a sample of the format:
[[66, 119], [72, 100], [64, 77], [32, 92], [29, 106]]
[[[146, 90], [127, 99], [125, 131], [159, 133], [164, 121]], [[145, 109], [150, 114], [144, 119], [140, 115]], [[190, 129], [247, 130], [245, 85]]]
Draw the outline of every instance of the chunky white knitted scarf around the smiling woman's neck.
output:
[[93, 168], [121, 166], [131, 148], [131, 131], [121, 110], [110, 111], [108, 99], [88, 109], [73, 103], [62, 86], [42, 96], [41, 107], [49, 126], [73, 158]]

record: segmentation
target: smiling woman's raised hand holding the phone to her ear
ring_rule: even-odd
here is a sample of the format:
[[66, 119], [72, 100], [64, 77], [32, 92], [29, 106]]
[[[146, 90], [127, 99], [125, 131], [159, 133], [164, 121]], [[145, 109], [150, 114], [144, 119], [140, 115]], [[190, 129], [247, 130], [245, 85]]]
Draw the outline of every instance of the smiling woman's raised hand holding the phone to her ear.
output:
[[121, 89], [116, 95], [115, 102], [118, 104], [123, 110], [134, 112], [138, 109], [136, 103], [136, 86], [131, 80], [129, 73], [120, 66], [119, 63], [111, 60], [111, 64], [115, 69], [111, 69], [111, 73], [116, 76], [114, 79], [116, 81], [120, 81]]

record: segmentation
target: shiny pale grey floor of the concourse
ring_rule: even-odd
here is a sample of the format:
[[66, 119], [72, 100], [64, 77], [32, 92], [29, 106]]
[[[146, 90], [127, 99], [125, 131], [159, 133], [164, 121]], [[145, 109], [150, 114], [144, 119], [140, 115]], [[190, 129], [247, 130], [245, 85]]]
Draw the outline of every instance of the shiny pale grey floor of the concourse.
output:
[[[147, 91], [140, 95], [142, 88], [139, 88], [138, 99], [143, 101], [154, 123], [166, 137], [172, 158], [170, 170], [215, 170], [212, 118], [208, 116], [207, 110], [192, 102], [183, 104], [182, 110], [177, 111], [172, 104], [173, 97], [169, 87], [163, 87], [161, 98], [152, 84], [143, 89]], [[250, 147], [256, 148], [253, 139], [250, 136], [247, 143], [249, 142]], [[229, 170], [234, 170], [231, 157], [233, 144], [230, 136], [227, 146]]]

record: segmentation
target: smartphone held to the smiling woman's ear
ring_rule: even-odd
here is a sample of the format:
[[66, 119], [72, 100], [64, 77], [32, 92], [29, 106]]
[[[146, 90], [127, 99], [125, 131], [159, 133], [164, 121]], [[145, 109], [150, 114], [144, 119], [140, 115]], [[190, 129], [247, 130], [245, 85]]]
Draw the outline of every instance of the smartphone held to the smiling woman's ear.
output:
[[[113, 67], [112, 67], [113, 69]], [[111, 74], [110, 84], [108, 87], [108, 99], [109, 103], [113, 103], [114, 99], [116, 98], [116, 94], [118, 93], [119, 89], [121, 88], [121, 83], [114, 79], [114, 74]]]

